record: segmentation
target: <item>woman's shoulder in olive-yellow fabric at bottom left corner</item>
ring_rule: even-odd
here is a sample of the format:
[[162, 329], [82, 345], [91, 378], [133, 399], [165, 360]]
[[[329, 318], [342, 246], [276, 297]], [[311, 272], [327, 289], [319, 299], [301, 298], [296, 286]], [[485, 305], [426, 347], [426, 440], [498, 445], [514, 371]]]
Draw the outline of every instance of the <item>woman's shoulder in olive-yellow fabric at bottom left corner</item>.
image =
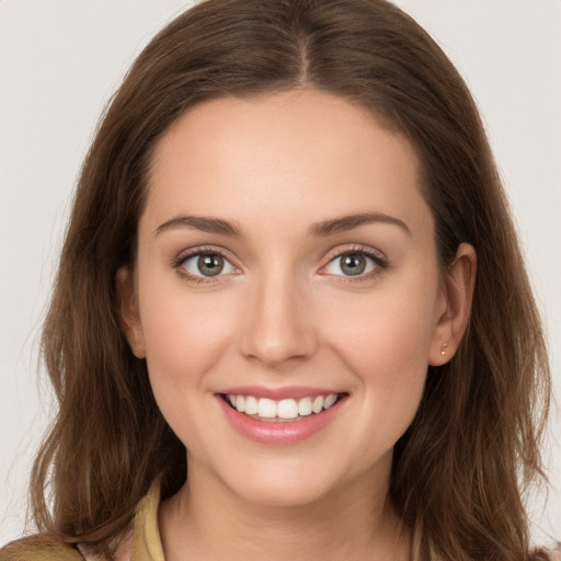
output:
[[37, 535], [19, 539], [0, 549], [0, 561], [83, 561], [72, 546], [51, 536]]

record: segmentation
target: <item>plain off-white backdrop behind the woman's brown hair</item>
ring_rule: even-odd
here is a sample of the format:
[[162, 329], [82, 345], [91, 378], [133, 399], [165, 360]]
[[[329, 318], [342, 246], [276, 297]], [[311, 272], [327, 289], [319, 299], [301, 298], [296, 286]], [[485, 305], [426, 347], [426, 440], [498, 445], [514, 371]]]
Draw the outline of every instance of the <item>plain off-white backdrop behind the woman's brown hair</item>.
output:
[[[149, 38], [191, 2], [0, 0], [0, 543], [24, 529], [51, 405], [37, 333], [79, 168], [106, 101]], [[400, 0], [470, 85], [519, 226], [561, 389], [561, 2]], [[561, 538], [561, 424], [546, 453], [539, 541]]]

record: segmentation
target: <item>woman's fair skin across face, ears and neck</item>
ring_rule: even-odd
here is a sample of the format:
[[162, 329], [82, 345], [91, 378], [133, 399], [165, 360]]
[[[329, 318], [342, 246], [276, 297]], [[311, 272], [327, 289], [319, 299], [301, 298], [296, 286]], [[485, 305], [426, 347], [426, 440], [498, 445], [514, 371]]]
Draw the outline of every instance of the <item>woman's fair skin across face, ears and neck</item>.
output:
[[[403, 136], [314, 90], [206, 102], [159, 142], [118, 280], [188, 449], [160, 508], [168, 561], [410, 559], [392, 449], [461, 340], [476, 273], [468, 244], [438, 270], [417, 169]], [[228, 394], [337, 401], [279, 419]]]

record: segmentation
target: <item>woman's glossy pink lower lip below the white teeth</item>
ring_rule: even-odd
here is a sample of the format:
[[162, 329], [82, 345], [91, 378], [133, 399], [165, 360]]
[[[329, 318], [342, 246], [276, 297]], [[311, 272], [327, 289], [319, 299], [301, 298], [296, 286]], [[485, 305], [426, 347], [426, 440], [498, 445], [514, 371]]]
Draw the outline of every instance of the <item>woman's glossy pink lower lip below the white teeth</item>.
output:
[[260, 421], [231, 408], [221, 396], [217, 396], [217, 399], [226, 417], [239, 434], [260, 444], [276, 446], [296, 444], [314, 435], [333, 421], [342, 401], [346, 400], [343, 397], [321, 413], [312, 413], [298, 421]]

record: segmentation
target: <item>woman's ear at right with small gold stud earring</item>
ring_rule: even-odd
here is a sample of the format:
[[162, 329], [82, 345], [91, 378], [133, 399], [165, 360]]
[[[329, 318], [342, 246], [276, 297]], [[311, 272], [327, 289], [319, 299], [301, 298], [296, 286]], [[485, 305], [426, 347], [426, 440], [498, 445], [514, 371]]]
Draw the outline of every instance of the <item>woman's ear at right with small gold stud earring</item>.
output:
[[440, 296], [443, 311], [428, 350], [431, 366], [447, 363], [458, 350], [471, 314], [477, 263], [473, 247], [460, 243], [454, 263], [444, 272]]

